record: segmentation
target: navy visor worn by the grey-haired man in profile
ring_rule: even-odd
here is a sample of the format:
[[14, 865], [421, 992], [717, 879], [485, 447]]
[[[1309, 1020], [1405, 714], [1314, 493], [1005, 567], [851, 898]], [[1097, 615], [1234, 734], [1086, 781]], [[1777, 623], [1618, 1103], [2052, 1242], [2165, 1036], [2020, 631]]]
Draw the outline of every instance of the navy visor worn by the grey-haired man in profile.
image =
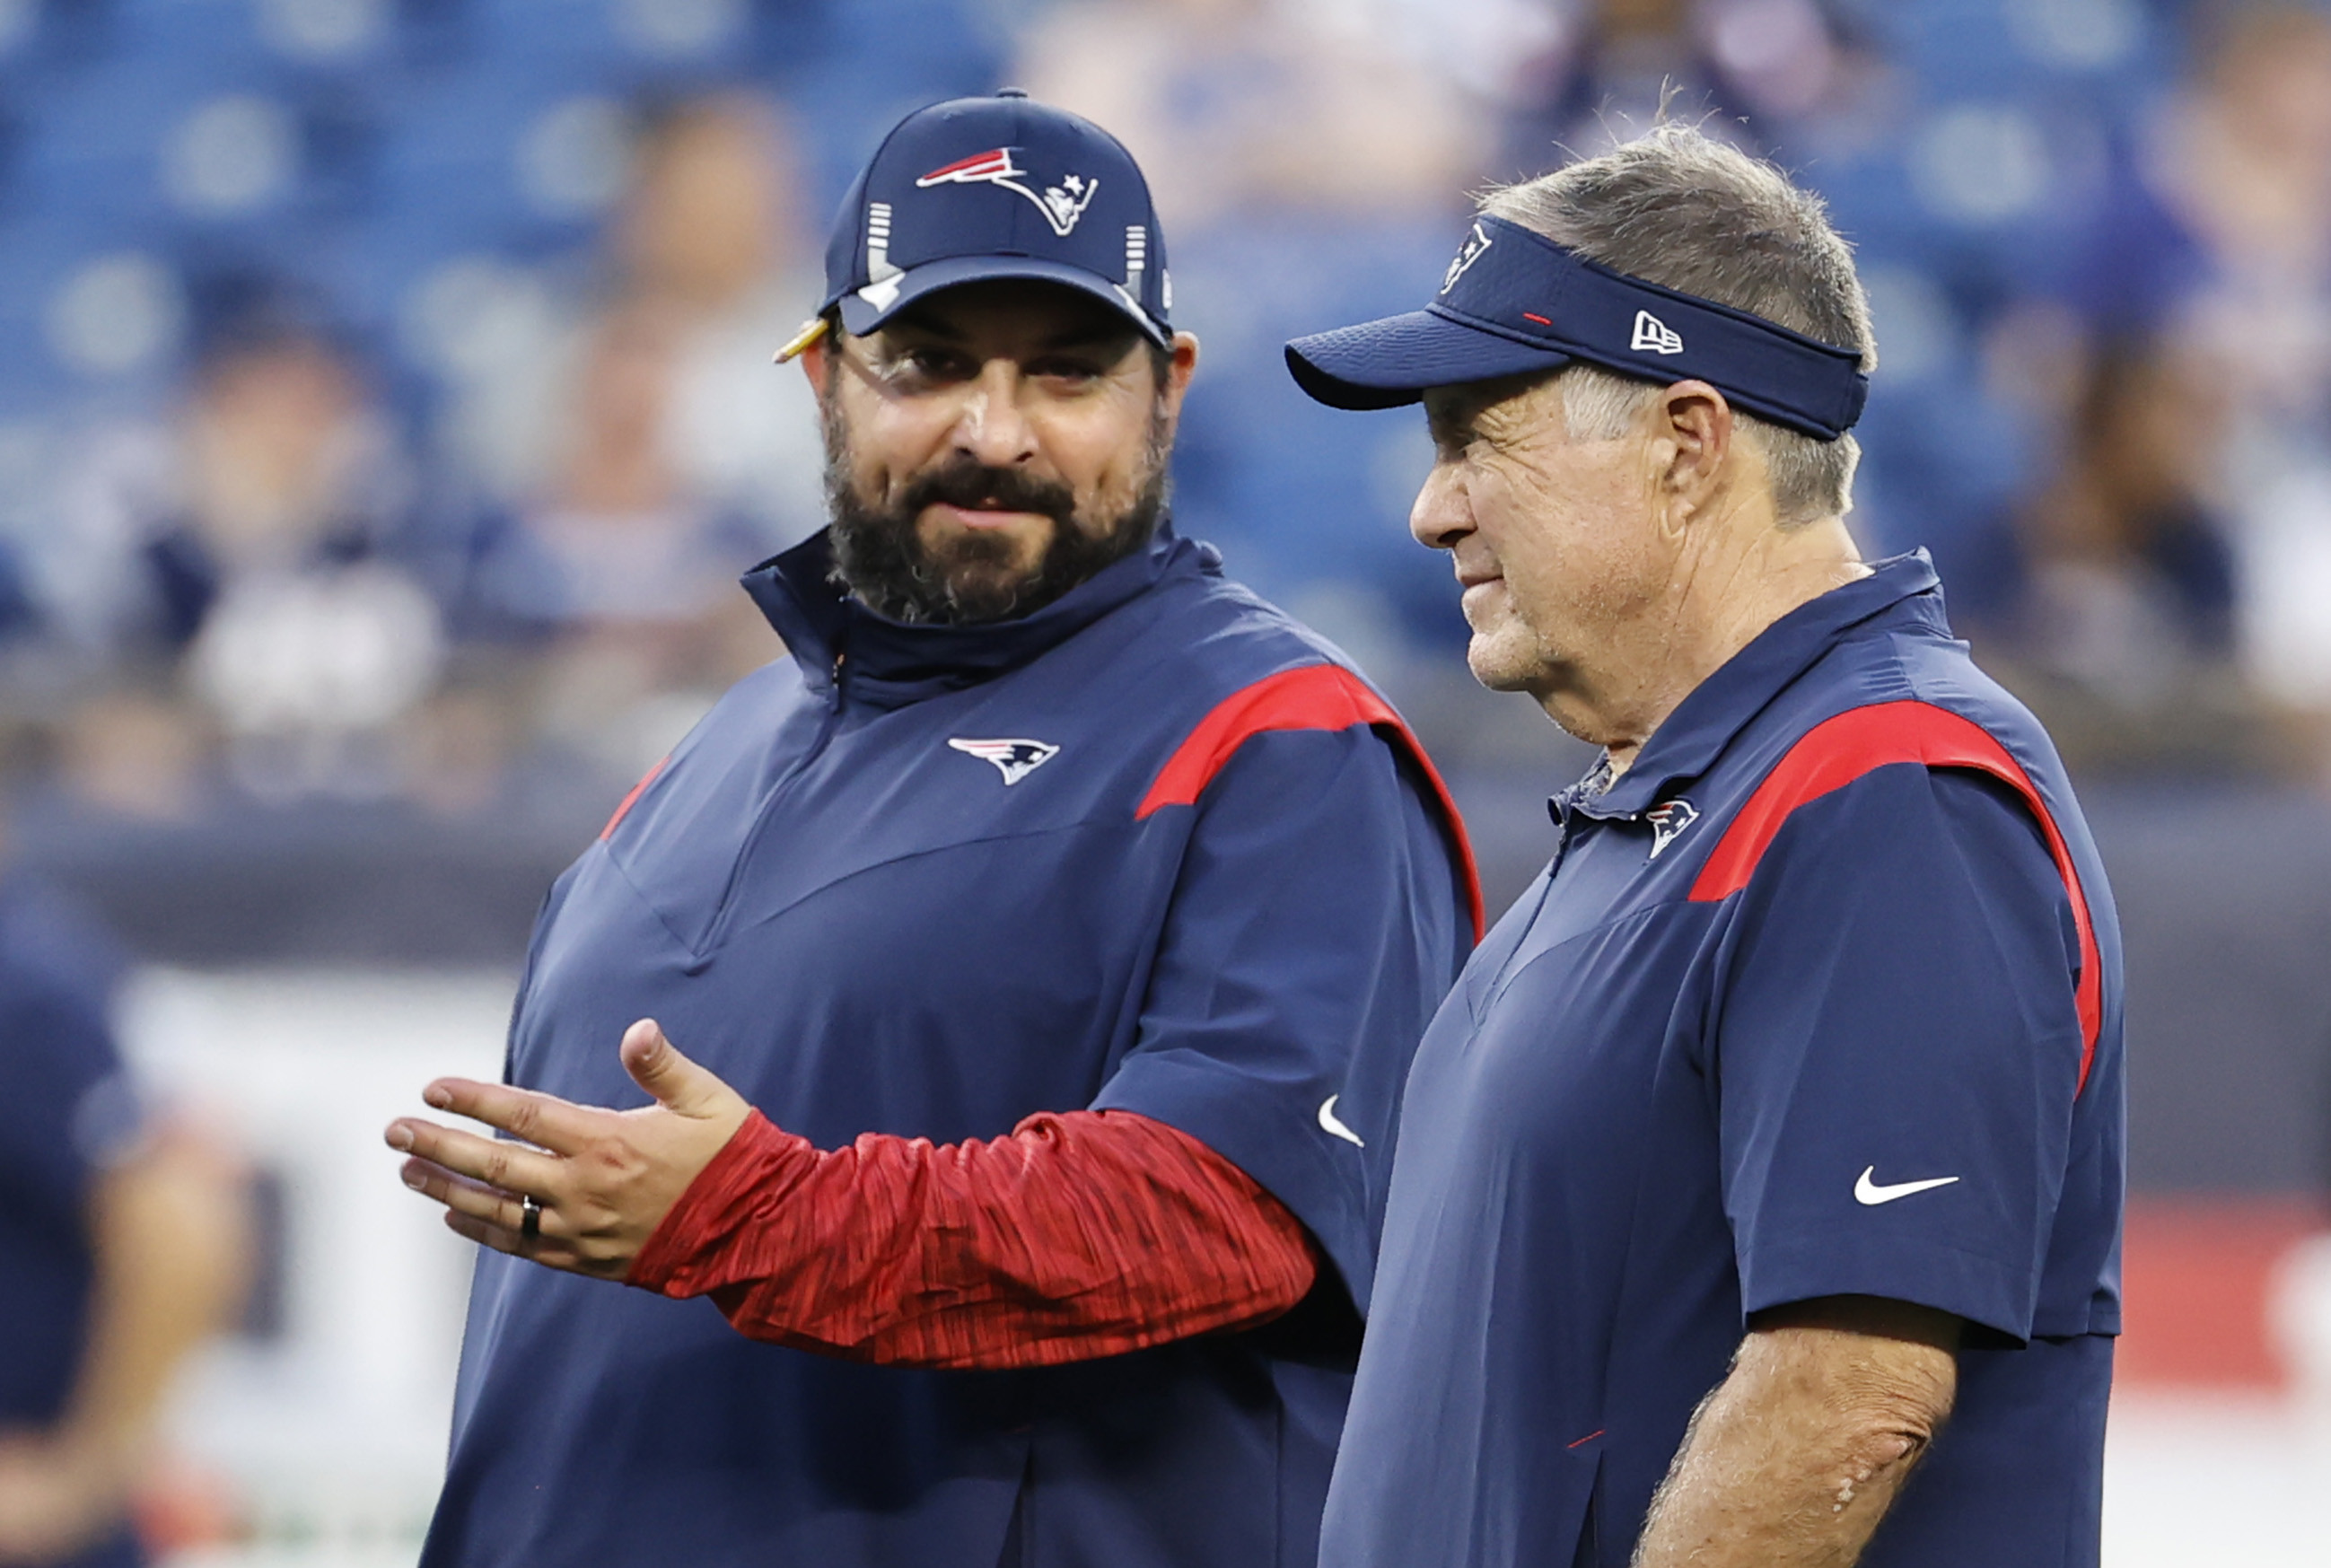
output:
[[1287, 368], [1329, 408], [1401, 408], [1427, 387], [1559, 370], [1573, 359], [1660, 384], [1702, 380], [1818, 440], [1853, 429], [1869, 396], [1855, 349], [1613, 273], [1487, 214], [1424, 310], [1287, 345]]

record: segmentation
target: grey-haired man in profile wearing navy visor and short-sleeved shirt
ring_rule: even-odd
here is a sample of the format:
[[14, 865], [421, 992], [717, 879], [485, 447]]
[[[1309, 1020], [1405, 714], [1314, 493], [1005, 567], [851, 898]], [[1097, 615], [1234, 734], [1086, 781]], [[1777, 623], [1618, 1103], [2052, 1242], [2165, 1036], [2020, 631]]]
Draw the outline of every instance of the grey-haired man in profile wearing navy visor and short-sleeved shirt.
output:
[[1289, 347], [1422, 396], [1473, 673], [1604, 746], [1417, 1053], [1326, 1568], [2098, 1556], [2112, 902], [1839, 522], [1869, 359], [1821, 203], [1676, 126]]

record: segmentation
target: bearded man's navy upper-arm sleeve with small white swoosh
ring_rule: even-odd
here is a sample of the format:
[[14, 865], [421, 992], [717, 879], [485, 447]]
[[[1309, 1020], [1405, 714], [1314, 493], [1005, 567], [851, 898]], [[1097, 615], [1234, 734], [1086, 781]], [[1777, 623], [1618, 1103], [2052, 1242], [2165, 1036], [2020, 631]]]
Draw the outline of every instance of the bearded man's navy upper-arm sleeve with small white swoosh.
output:
[[1408, 1060], [1473, 937], [1438, 811], [1364, 725], [1245, 741], [1196, 804], [1138, 1041], [1093, 1100], [1254, 1177], [1361, 1312]]

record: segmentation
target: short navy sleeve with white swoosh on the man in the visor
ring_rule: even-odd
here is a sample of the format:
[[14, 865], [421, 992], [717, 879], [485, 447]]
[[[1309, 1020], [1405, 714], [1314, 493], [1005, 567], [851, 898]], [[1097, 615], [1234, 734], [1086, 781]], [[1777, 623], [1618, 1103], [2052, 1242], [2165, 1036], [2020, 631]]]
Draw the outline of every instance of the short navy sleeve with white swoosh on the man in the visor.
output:
[[1744, 1312], [1883, 1295], [2028, 1337], [2082, 1062], [2030, 808], [1881, 767], [1800, 806], [1739, 897], [1713, 1067]]

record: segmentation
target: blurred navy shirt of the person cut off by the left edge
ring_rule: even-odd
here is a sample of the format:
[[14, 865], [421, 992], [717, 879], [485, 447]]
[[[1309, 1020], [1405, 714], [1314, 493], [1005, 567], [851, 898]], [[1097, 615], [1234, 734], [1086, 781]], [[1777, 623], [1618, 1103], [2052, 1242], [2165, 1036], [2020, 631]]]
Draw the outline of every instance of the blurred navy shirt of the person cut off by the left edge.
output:
[[[0, 881], [0, 1433], [51, 1428], [89, 1349], [89, 1200], [140, 1132], [107, 1020], [117, 965], [75, 909]], [[140, 1561], [124, 1528], [63, 1568]]]

